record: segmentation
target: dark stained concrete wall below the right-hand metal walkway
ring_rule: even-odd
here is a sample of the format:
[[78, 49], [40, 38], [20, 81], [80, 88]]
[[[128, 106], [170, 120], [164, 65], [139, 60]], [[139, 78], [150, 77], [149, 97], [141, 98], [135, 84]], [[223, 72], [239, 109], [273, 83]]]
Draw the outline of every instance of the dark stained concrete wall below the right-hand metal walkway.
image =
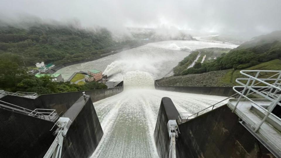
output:
[[224, 105], [179, 125], [177, 157], [274, 157]]

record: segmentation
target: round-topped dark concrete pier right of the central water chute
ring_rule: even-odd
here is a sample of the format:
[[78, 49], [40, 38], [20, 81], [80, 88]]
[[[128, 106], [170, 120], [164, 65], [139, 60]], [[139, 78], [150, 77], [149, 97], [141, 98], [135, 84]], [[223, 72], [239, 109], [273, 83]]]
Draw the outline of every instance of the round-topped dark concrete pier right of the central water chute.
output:
[[161, 100], [157, 122], [154, 130], [154, 141], [159, 157], [166, 158], [169, 156], [169, 133], [167, 123], [169, 120], [175, 120], [179, 116], [179, 112], [174, 106], [172, 100], [163, 97]]

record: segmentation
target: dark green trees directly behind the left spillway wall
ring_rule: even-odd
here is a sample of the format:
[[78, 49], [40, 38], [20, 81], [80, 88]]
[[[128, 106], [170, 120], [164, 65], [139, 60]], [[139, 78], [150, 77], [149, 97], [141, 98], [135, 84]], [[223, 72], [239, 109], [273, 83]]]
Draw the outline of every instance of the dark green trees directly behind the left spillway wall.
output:
[[16, 54], [0, 54], [0, 90], [48, 94], [107, 88], [106, 85], [97, 82], [76, 85], [70, 82], [52, 82], [48, 76], [37, 78], [26, 73], [27, 69], [21, 61], [22, 58]]

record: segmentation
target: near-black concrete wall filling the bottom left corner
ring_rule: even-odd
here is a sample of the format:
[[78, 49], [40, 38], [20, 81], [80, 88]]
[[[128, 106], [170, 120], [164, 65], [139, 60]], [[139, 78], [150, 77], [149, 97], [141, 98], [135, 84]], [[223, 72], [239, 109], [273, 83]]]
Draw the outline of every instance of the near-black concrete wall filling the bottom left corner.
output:
[[[55, 136], [53, 122], [0, 109], [0, 157], [43, 157]], [[55, 127], [56, 129], [56, 127]]]

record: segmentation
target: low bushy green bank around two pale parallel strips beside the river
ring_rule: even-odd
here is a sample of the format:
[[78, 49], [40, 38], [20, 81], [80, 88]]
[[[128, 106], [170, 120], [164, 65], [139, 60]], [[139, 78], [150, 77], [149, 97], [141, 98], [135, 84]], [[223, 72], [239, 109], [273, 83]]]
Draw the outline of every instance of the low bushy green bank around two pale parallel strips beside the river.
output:
[[[175, 75], [182, 75], [185, 73], [187, 68], [196, 60], [197, 56], [200, 54], [198, 60], [196, 61], [194, 67], [201, 67], [201, 61], [205, 56], [204, 62], [214, 61], [217, 57], [221, 56], [222, 53], [227, 53], [229, 48], [204, 48], [191, 51], [189, 56], [185, 57], [184, 60], [180, 61], [179, 64], [174, 67], [173, 71]], [[203, 63], [204, 63], [203, 62]]]

